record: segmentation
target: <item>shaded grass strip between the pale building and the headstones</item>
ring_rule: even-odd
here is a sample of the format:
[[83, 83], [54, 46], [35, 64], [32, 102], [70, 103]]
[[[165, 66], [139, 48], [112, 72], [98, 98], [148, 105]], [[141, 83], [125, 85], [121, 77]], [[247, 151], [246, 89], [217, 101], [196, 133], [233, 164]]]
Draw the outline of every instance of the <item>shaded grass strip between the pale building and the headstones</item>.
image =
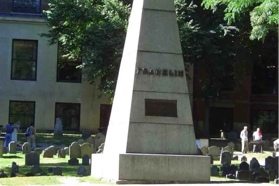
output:
[[[36, 143], [47, 143], [47, 144], [65, 144], [69, 146], [72, 142], [76, 142], [81, 139], [81, 134], [63, 134], [63, 136], [54, 136], [53, 133], [37, 133]], [[23, 144], [26, 142], [25, 133], [18, 133], [18, 143]]]

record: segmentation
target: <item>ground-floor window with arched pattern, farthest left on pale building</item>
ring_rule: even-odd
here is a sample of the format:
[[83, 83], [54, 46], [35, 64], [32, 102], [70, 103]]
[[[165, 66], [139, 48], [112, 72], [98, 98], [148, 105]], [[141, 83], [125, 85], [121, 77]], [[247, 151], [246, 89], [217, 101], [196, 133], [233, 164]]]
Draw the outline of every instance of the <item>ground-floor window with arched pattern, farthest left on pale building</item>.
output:
[[35, 102], [33, 101], [10, 101], [9, 122], [18, 123], [20, 126], [28, 127], [35, 119]]

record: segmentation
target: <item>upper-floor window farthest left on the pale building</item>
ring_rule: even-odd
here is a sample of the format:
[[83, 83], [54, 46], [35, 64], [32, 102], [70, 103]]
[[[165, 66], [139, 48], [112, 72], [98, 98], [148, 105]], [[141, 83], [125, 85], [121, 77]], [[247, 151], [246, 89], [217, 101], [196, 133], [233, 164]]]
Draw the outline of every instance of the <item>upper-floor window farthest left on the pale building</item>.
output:
[[37, 41], [13, 40], [11, 78], [36, 80]]

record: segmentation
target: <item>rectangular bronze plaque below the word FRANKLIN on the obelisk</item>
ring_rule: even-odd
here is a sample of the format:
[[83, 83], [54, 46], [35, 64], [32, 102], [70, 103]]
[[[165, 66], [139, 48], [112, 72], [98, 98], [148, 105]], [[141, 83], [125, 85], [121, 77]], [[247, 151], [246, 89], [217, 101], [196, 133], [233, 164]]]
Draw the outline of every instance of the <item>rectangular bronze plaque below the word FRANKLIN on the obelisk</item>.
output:
[[177, 101], [145, 99], [146, 116], [177, 117]]

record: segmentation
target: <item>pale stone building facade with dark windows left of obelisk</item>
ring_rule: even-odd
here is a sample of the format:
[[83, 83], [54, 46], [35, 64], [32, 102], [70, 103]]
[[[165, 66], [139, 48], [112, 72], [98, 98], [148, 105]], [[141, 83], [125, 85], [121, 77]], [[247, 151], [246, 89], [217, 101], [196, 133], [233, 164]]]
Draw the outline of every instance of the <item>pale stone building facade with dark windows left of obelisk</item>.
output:
[[97, 131], [108, 123], [109, 98], [83, 80], [75, 61], [58, 61], [48, 45], [44, 1], [0, 0], [0, 123], [53, 130], [62, 118], [65, 131]]

